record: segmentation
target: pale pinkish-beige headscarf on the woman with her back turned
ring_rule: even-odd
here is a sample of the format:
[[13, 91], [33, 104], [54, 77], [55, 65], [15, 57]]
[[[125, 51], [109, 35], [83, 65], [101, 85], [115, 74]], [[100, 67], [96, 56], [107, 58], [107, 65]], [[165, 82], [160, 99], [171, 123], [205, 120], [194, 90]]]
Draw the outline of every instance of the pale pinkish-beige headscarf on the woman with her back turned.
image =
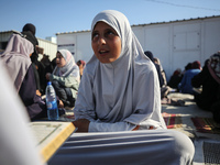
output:
[[21, 84], [31, 65], [30, 55], [34, 52], [33, 44], [20, 34], [12, 34], [1, 61], [15, 85], [16, 91], [20, 90]]

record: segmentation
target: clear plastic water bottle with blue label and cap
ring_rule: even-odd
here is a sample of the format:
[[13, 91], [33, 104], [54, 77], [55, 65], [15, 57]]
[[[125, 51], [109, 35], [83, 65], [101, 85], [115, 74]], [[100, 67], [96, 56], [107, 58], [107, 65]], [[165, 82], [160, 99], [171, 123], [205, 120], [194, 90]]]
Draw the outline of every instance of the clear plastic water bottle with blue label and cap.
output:
[[46, 107], [48, 120], [58, 120], [59, 116], [56, 102], [56, 92], [51, 81], [48, 81], [46, 86]]

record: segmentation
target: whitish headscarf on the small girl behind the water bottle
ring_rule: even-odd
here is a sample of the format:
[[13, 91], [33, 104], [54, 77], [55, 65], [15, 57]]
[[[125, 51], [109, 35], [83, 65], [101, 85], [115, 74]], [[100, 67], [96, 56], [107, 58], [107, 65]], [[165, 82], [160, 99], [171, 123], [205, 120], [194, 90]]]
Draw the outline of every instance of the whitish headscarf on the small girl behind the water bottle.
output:
[[58, 51], [64, 59], [66, 61], [66, 65], [64, 67], [55, 67], [53, 75], [61, 76], [61, 77], [67, 77], [69, 75], [77, 78], [78, 81], [80, 81], [79, 76], [79, 68], [75, 63], [74, 56], [68, 50], [59, 50]]

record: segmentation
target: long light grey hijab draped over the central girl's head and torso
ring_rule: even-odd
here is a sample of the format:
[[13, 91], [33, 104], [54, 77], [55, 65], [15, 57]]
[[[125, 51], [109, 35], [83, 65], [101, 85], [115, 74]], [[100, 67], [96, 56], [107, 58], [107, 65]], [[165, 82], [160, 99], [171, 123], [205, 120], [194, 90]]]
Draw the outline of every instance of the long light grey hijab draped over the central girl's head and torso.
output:
[[94, 55], [87, 63], [75, 106], [76, 119], [100, 122], [151, 122], [165, 128], [156, 69], [145, 56], [125, 15], [107, 10], [97, 22], [112, 26], [121, 38], [121, 54], [113, 63], [102, 64]]

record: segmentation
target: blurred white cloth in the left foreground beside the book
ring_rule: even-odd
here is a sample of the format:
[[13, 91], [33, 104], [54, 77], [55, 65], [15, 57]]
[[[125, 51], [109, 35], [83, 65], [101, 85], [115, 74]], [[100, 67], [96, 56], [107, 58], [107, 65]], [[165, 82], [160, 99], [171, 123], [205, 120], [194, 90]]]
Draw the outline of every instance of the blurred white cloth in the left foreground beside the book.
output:
[[29, 116], [0, 62], [0, 164], [43, 165]]

